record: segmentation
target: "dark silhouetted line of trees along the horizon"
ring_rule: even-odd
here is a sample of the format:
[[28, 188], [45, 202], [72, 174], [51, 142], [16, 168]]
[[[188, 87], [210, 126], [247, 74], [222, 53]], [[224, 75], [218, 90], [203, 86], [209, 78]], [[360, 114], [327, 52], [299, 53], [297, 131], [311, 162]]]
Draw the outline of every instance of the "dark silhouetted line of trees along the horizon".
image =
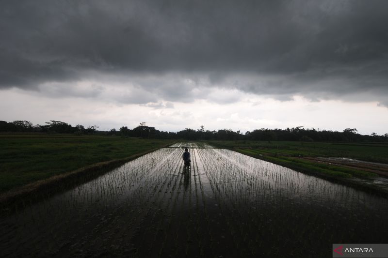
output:
[[356, 128], [345, 128], [342, 132], [331, 130], [305, 129], [297, 126], [286, 129], [255, 129], [252, 132], [242, 134], [240, 131], [231, 129], [205, 130], [201, 125], [198, 129], [185, 128], [179, 132], [166, 132], [157, 130], [155, 127], [147, 126], [146, 122], [141, 122], [137, 127], [129, 129], [122, 126], [109, 131], [98, 131], [97, 125], [84, 127], [77, 124], [72, 126], [63, 121], [50, 120], [44, 125], [32, 125], [30, 121], [0, 121], [0, 132], [39, 132], [39, 133], [59, 133], [75, 135], [108, 135], [122, 137], [142, 137], [152, 139], [186, 139], [186, 140], [265, 140], [265, 141], [374, 141], [388, 142], [388, 133], [384, 135], [361, 135]]

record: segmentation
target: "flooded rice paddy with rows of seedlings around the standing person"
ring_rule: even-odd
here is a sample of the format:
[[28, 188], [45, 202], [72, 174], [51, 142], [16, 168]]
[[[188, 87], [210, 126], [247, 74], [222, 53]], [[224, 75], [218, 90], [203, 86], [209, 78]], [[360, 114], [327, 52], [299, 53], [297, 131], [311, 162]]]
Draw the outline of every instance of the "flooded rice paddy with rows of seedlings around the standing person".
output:
[[[1, 218], [4, 257], [331, 257], [388, 243], [388, 200], [237, 152], [165, 148]], [[209, 146], [210, 147], [210, 146]]]

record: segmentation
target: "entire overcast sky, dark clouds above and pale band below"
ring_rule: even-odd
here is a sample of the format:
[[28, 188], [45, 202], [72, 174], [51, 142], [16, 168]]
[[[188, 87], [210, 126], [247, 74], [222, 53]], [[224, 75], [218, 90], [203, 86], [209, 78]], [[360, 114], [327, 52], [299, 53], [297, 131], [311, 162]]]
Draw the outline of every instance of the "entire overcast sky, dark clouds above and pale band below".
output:
[[0, 120], [388, 132], [388, 1], [1, 0]]

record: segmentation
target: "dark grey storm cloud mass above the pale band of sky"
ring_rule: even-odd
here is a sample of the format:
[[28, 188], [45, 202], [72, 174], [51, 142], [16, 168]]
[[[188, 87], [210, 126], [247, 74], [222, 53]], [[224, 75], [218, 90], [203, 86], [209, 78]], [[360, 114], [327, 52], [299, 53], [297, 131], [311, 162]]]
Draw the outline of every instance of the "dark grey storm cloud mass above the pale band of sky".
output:
[[[388, 105], [388, 1], [9, 0], [0, 7], [1, 88], [37, 89], [88, 79], [90, 71], [180, 73], [284, 99], [368, 92]], [[145, 78], [140, 86], [168, 101], [184, 98], [169, 82]]]

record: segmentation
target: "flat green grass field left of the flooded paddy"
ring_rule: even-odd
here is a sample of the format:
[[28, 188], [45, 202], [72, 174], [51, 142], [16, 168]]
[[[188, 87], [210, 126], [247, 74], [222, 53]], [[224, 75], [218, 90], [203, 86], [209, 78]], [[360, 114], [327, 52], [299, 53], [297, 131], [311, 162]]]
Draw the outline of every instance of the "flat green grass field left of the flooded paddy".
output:
[[169, 143], [173, 141], [115, 136], [1, 134], [0, 192]]

